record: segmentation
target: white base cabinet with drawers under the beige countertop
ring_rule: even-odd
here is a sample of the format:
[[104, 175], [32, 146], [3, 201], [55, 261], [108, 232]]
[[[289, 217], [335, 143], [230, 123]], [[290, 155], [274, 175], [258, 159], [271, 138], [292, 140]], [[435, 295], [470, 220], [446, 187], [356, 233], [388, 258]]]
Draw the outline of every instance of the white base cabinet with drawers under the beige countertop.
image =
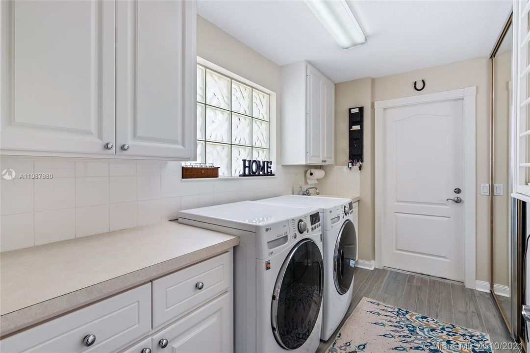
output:
[[1, 338], [0, 351], [232, 352], [232, 273], [228, 251]]

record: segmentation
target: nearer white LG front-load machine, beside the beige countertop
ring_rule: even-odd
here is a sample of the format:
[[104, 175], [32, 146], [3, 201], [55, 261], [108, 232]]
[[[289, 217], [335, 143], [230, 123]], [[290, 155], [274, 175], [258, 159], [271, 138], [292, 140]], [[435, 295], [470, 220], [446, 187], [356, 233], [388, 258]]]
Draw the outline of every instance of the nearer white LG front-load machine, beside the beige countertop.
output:
[[236, 352], [316, 351], [325, 280], [319, 209], [243, 201], [180, 211], [179, 223], [240, 237]]

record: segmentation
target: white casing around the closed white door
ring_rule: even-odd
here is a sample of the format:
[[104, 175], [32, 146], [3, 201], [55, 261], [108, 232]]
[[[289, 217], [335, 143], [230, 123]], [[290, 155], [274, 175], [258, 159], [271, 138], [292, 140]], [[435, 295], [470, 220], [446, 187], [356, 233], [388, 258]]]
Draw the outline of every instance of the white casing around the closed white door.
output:
[[375, 108], [375, 267], [383, 267], [383, 220], [385, 203], [384, 110], [419, 103], [463, 100], [464, 118], [464, 285], [475, 289], [476, 267], [476, 86], [406, 98], [376, 101]]

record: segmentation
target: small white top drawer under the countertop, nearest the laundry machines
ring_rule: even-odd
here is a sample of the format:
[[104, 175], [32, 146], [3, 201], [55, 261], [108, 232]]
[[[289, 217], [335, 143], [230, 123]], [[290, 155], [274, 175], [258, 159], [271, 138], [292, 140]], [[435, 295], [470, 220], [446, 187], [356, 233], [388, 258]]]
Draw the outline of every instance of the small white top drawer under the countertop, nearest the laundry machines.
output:
[[[169, 323], [228, 289], [232, 253], [224, 253], [153, 281], [153, 328]], [[202, 289], [200, 288], [202, 284]]]

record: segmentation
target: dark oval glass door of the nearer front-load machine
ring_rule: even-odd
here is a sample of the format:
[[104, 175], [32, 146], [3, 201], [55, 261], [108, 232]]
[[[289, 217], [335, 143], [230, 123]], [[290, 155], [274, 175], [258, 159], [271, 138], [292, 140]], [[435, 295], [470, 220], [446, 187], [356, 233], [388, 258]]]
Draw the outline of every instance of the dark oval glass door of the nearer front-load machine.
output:
[[302, 346], [313, 331], [322, 304], [323, 266], [311, 240], [296, 244], [281, 266], [272, 295], [272, 332], [285, 349]]

